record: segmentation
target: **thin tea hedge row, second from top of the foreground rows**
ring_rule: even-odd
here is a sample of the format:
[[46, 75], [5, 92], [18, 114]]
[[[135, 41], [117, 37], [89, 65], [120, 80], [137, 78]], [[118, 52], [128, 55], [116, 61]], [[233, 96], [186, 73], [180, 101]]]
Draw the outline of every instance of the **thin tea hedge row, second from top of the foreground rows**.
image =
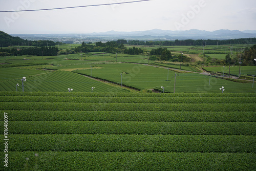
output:
[[75, 102], [75, 103], [256, 103], [255, 97], [55, 97], [2, 96], [0, 102]]

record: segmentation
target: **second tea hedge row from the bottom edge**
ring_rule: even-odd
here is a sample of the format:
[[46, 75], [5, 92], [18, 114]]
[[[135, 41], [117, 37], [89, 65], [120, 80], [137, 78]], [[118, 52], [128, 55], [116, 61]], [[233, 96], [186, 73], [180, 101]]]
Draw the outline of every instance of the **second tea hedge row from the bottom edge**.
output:
[[256, 153], [256, 136], [10, 135], [9, 139], [9, 150], [19, 152]]

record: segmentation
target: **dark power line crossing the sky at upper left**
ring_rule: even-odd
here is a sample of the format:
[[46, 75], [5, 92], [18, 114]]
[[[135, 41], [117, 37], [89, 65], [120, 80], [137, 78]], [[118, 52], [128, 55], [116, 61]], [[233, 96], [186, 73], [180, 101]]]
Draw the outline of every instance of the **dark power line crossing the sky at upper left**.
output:
[[106, 6], [106, 5], [118, 5], [118, 4], [139, 3], [139, 2], [144, 2], [144, 1], [152, 1], [152, 0], [141, 0], [141, 1], [131, 1], [131, 2], [111, 3], [111, 4], [84, 5], [84, 6], [76, 6], [76, 7], [47, 8], [47, 9], [37, 9], [37, 10], [0, 11], [0, 12], [27, 12], [27, 11], [60, 10], [60, 9], [69, 9], [69, 8], [81, 8], [81, 7], [95, 7], [95, 6]]

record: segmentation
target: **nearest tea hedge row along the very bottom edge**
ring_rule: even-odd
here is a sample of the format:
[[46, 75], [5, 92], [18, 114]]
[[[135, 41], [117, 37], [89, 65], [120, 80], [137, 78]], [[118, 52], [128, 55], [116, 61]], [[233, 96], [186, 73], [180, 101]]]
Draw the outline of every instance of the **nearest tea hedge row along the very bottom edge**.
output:
[[[4, 154], [1, 153], [1, 156]], [[256, 154], [10, 152], [1, 170], [255, 170]]]

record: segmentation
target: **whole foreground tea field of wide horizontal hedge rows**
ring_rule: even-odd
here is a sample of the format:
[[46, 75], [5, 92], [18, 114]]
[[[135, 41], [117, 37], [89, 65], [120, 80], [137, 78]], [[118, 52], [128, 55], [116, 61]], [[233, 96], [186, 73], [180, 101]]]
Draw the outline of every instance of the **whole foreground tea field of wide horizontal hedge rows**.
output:
[[9, 170], [256, 169], [255, 93], [0, 96]]

